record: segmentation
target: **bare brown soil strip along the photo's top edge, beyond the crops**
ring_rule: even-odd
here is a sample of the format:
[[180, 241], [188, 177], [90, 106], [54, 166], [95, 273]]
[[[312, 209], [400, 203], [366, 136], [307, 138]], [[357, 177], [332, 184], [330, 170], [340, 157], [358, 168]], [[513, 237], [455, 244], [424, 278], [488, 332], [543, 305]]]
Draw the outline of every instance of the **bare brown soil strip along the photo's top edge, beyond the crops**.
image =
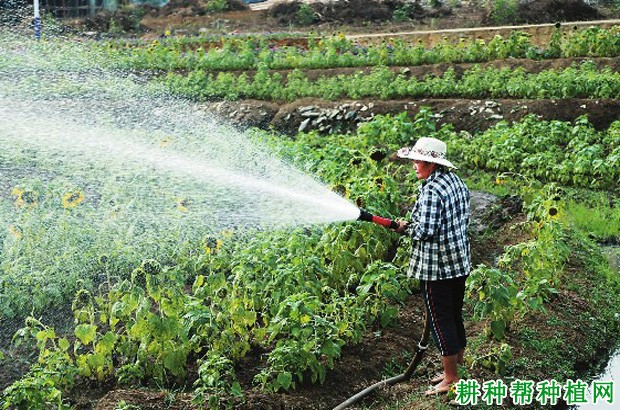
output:
[[[228, 3], [232, 4], [233, 0]], [[401, 7], [402, 3], [395, 0], [309, 2], [316, 13], [316, 22], [301, 25], [296, 15], [301, 3], [295, 0], [272, 2], [271, 8], [260, 11], [229, 6], [230, 11], [224, 13], [205, 12], [204, 2], [199, 0], [172, 0], [160, 11], [151, 9], [142, 19], [141, 26], [147, 32], [160, 34], [172, 28], [180, 30], [182, 34], [200, 31], [206, 34], [297, 32], [330, 35], [397, 33], [501, 24], [554, 24], [614, 18], [617, 14], [616, 10], [591, 7], [582, 0], [538, 0], [521, 5], [516, 19], [508, 22], [490, 18], [489, 10], [477, 1], [462, 1], [455, 7], [443, 5], [422, 8], [414, 4], [409, 13], [410, 20], [395, 22], [391, 13]], [[384, 9], [389, 9], [390, 13], [386, 14]]]

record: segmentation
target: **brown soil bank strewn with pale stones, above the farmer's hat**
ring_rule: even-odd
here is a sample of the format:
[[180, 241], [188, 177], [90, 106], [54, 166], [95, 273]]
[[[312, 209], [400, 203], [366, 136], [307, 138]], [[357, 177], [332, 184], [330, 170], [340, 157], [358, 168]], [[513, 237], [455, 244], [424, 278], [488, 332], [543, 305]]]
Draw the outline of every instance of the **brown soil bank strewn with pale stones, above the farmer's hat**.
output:
[[[224, 119], [241, 127], [273, 127], [280, 132], [295, 134], [305, 118], [302, 110], [312, 107], [327, 112], [341, 109], [356, 110], [356, 115], [348, 122], [339, 121], [334, 126], [340, 131], [354, 130], [359, 122], [379, 114], [399, 114], [407, 112], [414, 117], [422, 107], [429, 107], [435, 113], [438, 124], [452, 124], [457, 131], [475, 133], [484, 131], [500, 121], [518, 121], [527, 114], [534, 114], [544, 120], [574, 121], [587, 115], [597, 129], [608, 127], [618, 119], [619, 100], [507, 100], [507, 99], [408, 99], [408, 100], [356, 100], [324, 101], [303, 99], [290, 104], [278, 105], [264, 101], [244, 100], [236, 102], [205, 103], [205, 107]], [[492, 105], [493, 107], [487, 107]], [[372, 107], [372, 108], [369, 108]], [[309, 123], [304, 131], [319, 130], [321, 125]]]

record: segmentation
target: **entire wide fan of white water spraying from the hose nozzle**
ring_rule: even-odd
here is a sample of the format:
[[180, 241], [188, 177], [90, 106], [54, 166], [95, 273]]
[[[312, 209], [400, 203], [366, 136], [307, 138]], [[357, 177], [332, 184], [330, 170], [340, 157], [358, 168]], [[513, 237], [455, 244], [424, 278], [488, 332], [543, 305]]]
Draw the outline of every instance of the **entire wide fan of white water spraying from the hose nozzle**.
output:
[[[33, 47], [41, 53], [39, 45]], [[75, 55], [75, 47], [68, 52]], [[26, 155], [24, 161], [69, 178], [73, 172], [93, 185], [127, 175], [145, 177], [141, 189], [153, 195], [164, 188], [175, 197], [209, 204], [194, 211], [210, 213], [206, 220], [217, 229], [233, 221], [214, 215], [235, 215], [236, 226], [261, 228], [359, 215], [350, 201], [275, 158], [247, 135], [218, 123], [198, 105], [149, 92], [135, 76], [99, 66], [88, 69], [86, 62], [58, 69], [45, 53], [37, 58], [29, 49], [5, 50], [12, 50], [0, 52], [5, 161]], [[54, 60], [62, 61], [58, 56]], [[171, 143], [163, 146], [166, 141]], [[89, 175], [86, 169], [93, 171]], [[153, 178], [157, 181], [149, 185]], [[161, 205], [149, 205], [150, 212], [161, 213]]]

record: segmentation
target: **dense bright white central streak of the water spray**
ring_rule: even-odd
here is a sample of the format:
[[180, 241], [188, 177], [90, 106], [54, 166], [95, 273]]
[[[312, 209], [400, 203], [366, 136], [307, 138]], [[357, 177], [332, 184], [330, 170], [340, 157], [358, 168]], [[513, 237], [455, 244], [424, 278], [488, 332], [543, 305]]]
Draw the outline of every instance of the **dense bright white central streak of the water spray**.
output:
[[[151, 167], [159, 172], [162, 178], [177, 175], [204, 183], [207, 192], [202, 195], [205, 197], [209, 196], [209, 190], [216, 192], [217, 186], [226, 187], [231, 195], [234, 193], [228, 188], [255, 193], [263, 198], [272, 197], [280, 205], [288, 204], [291, 207], [290, 212], [296, 213], [302, 223], [350, 220], [359, 214], [348, 201], [284, 163], [280, 164], [282, 174], [255, 176], [242, 170], [230, 169], [226, 164], [217, 163], [213, 159], [207, 162], [196, 155], [137, 142], [135, 136], [127, 135], [123, 130], [68, 126], [66, 122], [56, 118], [31, 114], [27, 107], [20, 106], [15, 101], [0, 99], [0, 129], [5, 130], [0, 139], [3, 145], [17, 142], [22, 149], [37, 150], [42, 155], [69, 161], [82, 158], [81, 163], [100, 163], [104, 167], [119, 161], [123, 167], [128, 167], [130, 163]], [[3, 119], [10, 121], [10, 124]], [[54, 130], [58, 130], [59, 135], [50, 138]], [[24, 136], [27, 138], [24, 139]], [[246, 159], [241, 157], [238, 160]], [[277, 161], [274, 158], [269, 160]], [[291, 177], [291, 173], [297, 174], [292, 180], [296, 182], [295, 186], [290, 185], [291, 180], [278, 180], [282, 175]], [[303, 191], [300, 190], [301, 187], [304, 188]], [[300, 206], [305, 209], [299, 209]], [[277, 208], [281, 210], [282, 207]], [[275, 215], [270, 217], [274, 224], [278, 225]], [[269, 223], [269, 220], [265, 222]]]

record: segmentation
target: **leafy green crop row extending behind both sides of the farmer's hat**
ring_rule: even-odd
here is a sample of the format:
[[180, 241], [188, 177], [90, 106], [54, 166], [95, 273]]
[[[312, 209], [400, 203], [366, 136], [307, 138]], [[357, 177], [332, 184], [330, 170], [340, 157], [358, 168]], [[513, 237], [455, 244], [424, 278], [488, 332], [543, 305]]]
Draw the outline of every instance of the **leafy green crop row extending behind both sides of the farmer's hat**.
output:
[[[432, 113], [422, 109], [413, 121], [405, 113], [378, 116], [360, 125], [357, 137], [352, 138], [360, 147], [368, 147], [374, 155], [389, 156], [393, 146], [385, 141], [400, 135], [406, 140], [407, 134], [414, 135], [413, 139], [420, 134], [436, 135], [447, 142], [456, 163], [466, 169], [518, 173], [521, 177], [544, 183], [608, 191], [616, 190], [620, 181], [620, 121], [598, 131], [586, 116], [571, 123], [541, 121], [535, 115], [528, 115], [519, 122], [509, 124], [502, 121], [484, 132], [471, 135], [454, 132], [447, 125], [436, 130]], [[304, 138], [297, 138], [304, 141]], [[327, 150], [333, 147], [331, 138], [337, 140], [339, 136], [323, 136], [320, 142], [317, 141], [313, 150], [318, 150], [318, 154], [295, 150], [288, 156], [313, 164], [314, 172], [322, 179], [332, 181], [340, 175], [336, 171], [339, 169], [337, 161], [342, 160], [335, 154], [328, 155]], [[363, 143], [357, 138], [363, 138]], [[323, 144], [328, 147], [325, 152], [322, 151]], [[371, 149], [372, 146], [382, 148]], [[361, 152], [357, 155], [363, 156]], [[393, 172], [394, 178], [402, 178], [398, 176], [403, 172], [401, 168], [394, 168]], [[379, 203], [376, 199], [372, 202]]]

